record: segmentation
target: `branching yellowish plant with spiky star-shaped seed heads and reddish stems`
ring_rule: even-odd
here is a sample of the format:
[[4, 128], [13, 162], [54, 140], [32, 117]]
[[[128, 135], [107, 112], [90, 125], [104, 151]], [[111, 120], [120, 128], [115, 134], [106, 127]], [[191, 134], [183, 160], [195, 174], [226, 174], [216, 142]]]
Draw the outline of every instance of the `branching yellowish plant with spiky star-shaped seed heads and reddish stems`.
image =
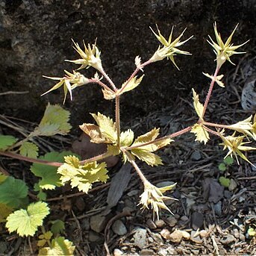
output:
[[[236, 28], [234, 28], [234, 31]], [[199, 116], [199, 120], [194, 125], [187, 126], [187, 128], [184, 128], [181, 131], [168, 134], [164, 137], [158, 137], [159, 128], [153, 128], [152, 131], [149, 131], [137, 138], [134, 138], [134, 132], [131, 131], [131, 129], [128, 129], [127, 131], [121, 131], [119, 115], [120, 97], [139, 86], [143, 80], [144, 75], [141, 75], [138, 78], [138, 72], [143, 72], [143, 69], [149, 64], [163, 60], [165, 58], [171, 60], [172, 63], [177, 67], [174, 57], [178, 54], [190, 54], [188, 51], [182, 51], [179, 49], [179, 47], [186, 43], [187, 40], [190, 40], [191, 37], [187, 40], [181, 41], [181, 37], [184, 34], [183, 31], [175, 40], [173, 40], [172, 31], [168, 40], [163, 37], [158, 28], [157, 33], [153, 31], [154, 36], [157, 37], [157, 40], [160, 42], [160, 46], [158, 47], [157, 51], [154, 52], [152, 57], [150, 57], [146, 62], [142, 63], [139, 56], [135, 57], [136, 69], [128, 78], [128, 80], [122, 84], [121, 87], [116, 87], [106, 72], [104, 72], [102, 60], [100, 58], [100, 51], [96, 46], [96, 43], [94, 43], [92, 46], [90, 44], [86, 46], [84, 43], [83, 50], [78, 45], [78, 43], [73, 41], [74, 49], [78, 52], [80, 58], [77, 60], [67, 61], [79, 64], [81, 66], [73, 72], [67, 72], [65, 70], [66, 75], [64, 75], [62, 78], [46, 77], [58, 81], [57, 84], [55, 84], [54, 87], [52, 87], [46, 93], [49, 93], [52, 90], [56, 90], [57, 88], [63, 86], [64, 102], [66, 100], [67, 93], [69, 93], [70, 98], [72, 99], [72, 90], [75, 90], [76, 87], [81, 87], [87, 84], [99, 84], [99, 86], [102, 87], [104, 99], [114, 99], [116, 103], [114, 121], [113, 119], [104, 116], [102, 113], [92, 113], [93, 119], [95, 119], [97, 125], [90, 123], [84, 123], [83, 125], [80, 125], [81, 130], [90, 137], [91, 142], [106, 143], [107, 152], [86, 160], [79, 160], [78, 157], [72, 155], [66, 156], [64, 157], [65, 163], [51, 163], [47, 160], [40, 160], [40, 163], [58, 166], [57, 173], [61, 175], [60, 181], [63, 184], [70, 182], [72, 187], [78, 187], [78, 190], [87, 193], [88, 190], [92, 187], [93, 182], [105, 182], [108, 178], [106, 164], [104, 162], [97, 163], [97, 161], [104, 160], [105, 157], [110, 155], [122, 154], [122, 159], [124, 162], [128, 161], [132, 164], [132, 166], [134, 166], [134, 169], [143, 182], [144, 192], [140, 196], [140, 205], [142, 205], [142, 209], [149, 209], [150, 205], [153, 210], [153, 216], [156, 214], [157, 218], [159, 218], [159, 210], [161, 208], [169, 210], [169, 208], [166, 207], [164, 201], [167, 199], [172, 199], [168, 196], [163, 196], [163, 193], [168, 190], [172, 190], [175, 187], [175, 184], [167, 187], [155, 187], [147, 180], [145, 175], [143, 175], [143, 172], [137, 165], [137, 159], [146, 162], [150, 166], [157, 166], [162, 164], [162, 160], [159, 156], [157, 156], [157, 154], [154, 154], [154, 152], [172, 143], [175, 137], [178, 137], [181, 134], [185, 134], [187, 132], [192, 132], [196, 136], [196, 141], [205, 144], [208, 140], [210, 140], [210, 134], [219, 137], [219, 139], [222, 140], [220, 145], [223, 146], [223, 149], [228, 149], [226, 157], [228, 155], [231, 157], [234, 156], [238, 162], [239, 156], [251, 163], [243, 154], [243, 151], [256, 149], [250, 146], [246, 146], [246, 144], [250, 142], [249, 138], [252, 138], [253, 140], [256, 139], [256, 116], [253, 120], [252, 116], [249, 116], [249, 118], [232, 125], [220, 125], [207, 122], [205, 120], [205, 111], [207, 110], [207, 105], [210, 101], [214, 84], [216, 83], [220, 87], [225, 87], [221, 81], [223, 75], [219, 75], [219, 69], [221, 69], [226, 60], [231, 62], [230, 57], [233, 54], [243, 53], [237, 52], [236, 50], [245, 44], [243, 43], [239, 46], [234, 46], [231, 43], [234, 31], [231, 33], [230, 37], [228, 37], [228, 40], [223, 43], [222, 38], [217, 31], [216, 24], [214, 24], [216, 43], [211, 39], [211, 37], [210, 41], [208, 42], [213, 47], [213, 51], [216, 54], [216, 69], [213, 75], [204, 73], [204, 75], [206, 75], [211, 80], [210, 88], [204, 104], [199, 102], [199, 96], [196, 91], [193, 90], [193, 105], [197, 115]], [[86, 78], [84, 75], [78, 72], [78, 70], [87, 69], [90, 66], [92, 66], [97, 71], [93, 78]], [[103, 79], [107, 83], [104, 83]], [[226, 134], [226, 131], [229, 130], [234, 131], [234, 133]], [[248, 141], [245, 142], [246, 139]], [[1, 152], [1, 154], [11, 156], [9, 152]], [[25, 157], [22, 157], [22, 160], [25, 160]], [[37, 159], [29, 160], [32, 162], [39, 162]], [[169, 212], [172, 213], [171, 210], [169, 210]]]

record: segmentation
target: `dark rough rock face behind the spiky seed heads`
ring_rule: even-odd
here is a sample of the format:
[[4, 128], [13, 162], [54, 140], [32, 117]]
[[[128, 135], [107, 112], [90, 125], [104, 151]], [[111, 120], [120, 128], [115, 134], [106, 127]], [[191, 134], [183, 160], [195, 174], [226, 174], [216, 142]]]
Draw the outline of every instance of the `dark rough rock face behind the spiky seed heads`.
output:
[[[187, 28], [184, 39], [194, 37], [182, 49], [193, 55], [176, 58], [181, 71], [167, 60], [147, 66], [141, 86], [122, 99], [122, 121], [175, 106], [181, 97], [190, 96], [192, 87], [206, 91], [202, 72], [213, 72], [215, 67], [206, 41], [208, 34], [214, 37], [214, 21], [224, 39], [239, 22], [235, 44], [250, 39], [243, 49], [249, 52], [255, 47], [255, 6], [255, 0], [1, 0], [0, 93], [29, 93], [0, 96], [0, 113], [39, 121], [47, 102], [62, 104], [62, 90], [40, 97], [54, 85], [42, 75], [61, 77], [63, 69], [78, 67], [63, 61], [78, 56], [71, 38], [80, 44], [97, 38], [104, 69], [116, 84], [122, 84], [134, 70], [134, 57], [147, 60], [157, 49], [149, 30], [154, 24], [166, 37], [172, 25], [175, 36]], [[233, 58], [235, 63], [239, 57]], [[221, 73], [232, 68], [227, 64]], [[91, 77], [94, 70], [83, 73]], [[96, 85], [75, 90], [74, 101], [68, 99], [65, 106], [72, 111], [73, 125], [90, 120], [90, 112], [113, 116], [114, 109]]]

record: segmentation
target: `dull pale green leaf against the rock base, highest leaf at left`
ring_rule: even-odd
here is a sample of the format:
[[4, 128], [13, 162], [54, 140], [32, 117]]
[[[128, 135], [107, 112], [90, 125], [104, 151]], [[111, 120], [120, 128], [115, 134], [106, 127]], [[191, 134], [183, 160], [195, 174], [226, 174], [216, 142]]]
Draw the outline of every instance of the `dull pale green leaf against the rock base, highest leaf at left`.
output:
[[71, 129], [69, 116], [69, 111], [64, 110], [60, 105], [48, 104], [40, 124], [32, 134], [37, 136], [66, 135]]

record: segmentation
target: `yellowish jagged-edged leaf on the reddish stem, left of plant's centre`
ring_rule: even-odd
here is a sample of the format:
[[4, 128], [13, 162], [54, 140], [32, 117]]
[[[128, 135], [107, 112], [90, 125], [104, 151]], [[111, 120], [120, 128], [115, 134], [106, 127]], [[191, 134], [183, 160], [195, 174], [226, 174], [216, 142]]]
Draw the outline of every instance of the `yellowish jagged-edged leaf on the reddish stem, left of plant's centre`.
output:
[[78, 157], [69, 156], [64, 158], [66, 163], [63, 163], [57, 169], [57, 173], [61, 175], [60, 180], [63, 183], [70, 181], [71, 187], [78, 187], [78, 190], [88, 193], [94, 182], [107, 181], [106, 163], [92, 162], [81, 166]]

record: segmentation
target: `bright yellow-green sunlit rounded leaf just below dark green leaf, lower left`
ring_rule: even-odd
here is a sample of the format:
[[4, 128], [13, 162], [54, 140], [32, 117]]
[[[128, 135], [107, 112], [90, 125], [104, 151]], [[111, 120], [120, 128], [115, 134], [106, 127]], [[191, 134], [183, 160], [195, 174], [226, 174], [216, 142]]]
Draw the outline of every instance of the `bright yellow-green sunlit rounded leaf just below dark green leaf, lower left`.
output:
[[6, 227], [9, 232], [16, 231], [21, 237], [34, 236], [49, 212], [46, 202], [32, 203], [28, 205], [27, 210], [16, 210], [11, 213], [7, 217]]

